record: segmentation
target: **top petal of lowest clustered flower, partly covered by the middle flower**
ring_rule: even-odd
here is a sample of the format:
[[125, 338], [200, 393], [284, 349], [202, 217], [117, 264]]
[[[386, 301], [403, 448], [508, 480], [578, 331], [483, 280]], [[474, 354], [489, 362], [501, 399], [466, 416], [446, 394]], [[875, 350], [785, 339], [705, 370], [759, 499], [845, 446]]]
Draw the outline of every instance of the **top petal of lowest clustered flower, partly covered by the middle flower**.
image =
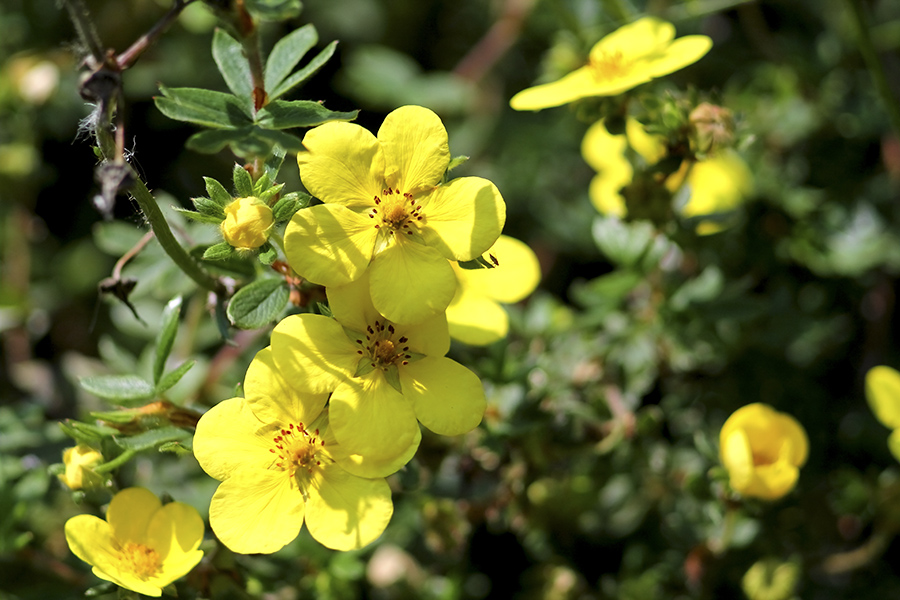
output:
[[303, 393], [275, 364], [271, 347], [260, 350], [244, 377], [244, 398], [263, 423], [312, 423], [325, 408], [327, 394]]

